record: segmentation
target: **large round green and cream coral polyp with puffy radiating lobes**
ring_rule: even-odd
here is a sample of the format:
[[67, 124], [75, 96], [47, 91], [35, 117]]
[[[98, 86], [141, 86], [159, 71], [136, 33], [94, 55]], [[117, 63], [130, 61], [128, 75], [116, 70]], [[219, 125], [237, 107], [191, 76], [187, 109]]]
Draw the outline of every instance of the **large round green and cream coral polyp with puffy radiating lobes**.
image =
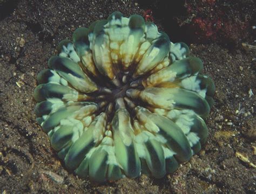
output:
[[160, 178], [198, 153], [215, 88], [188, 55], [153, 23], [120, 12], [60, 42], [34, 96], [66, 168], [97, 182]]

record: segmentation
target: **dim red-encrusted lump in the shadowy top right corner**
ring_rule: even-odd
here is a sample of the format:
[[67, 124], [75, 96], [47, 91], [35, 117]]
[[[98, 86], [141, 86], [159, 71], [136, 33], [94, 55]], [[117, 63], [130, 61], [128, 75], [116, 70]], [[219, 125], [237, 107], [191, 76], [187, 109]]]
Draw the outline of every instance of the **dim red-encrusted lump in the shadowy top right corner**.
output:
[[[179, 25], [194, 34], [191, 36], [194, 42], [220, 41], [232, 47], [237, 40], [248, 38], [249, 21], [253, 16], [241, 13], [248, 12], [250, 5], [253, 7], [251, 3], [240, 1], [235, 5], [230, 1], [188, 0], [185, 2], [187, 17], [179, 21]], [[235, 6], [238, 7], [235, 9]]]

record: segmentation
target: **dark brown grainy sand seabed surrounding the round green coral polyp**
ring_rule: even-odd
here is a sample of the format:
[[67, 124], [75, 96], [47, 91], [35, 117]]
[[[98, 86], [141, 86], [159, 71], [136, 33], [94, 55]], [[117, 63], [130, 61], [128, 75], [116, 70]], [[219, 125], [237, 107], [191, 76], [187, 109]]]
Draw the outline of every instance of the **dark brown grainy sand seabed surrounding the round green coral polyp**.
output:
[[[256, 164], [255, 96], [248, 94], [250, 89], [256, 93], [256, 54], [255, 47], [246, 51], [241, 46], [255, 46], [255, 3], [163, 2], [0, 1], [2, 193], [255, 193], [255, 168], [235, 155]], [[146, 9], [152, 9], [154, 22], [172, 41], [190, 45], [192, 55], [204, 61], [203, 72], [213, 78], [215, 105], [206, 120], [210, 135], [198, 155], [162, 179], [143, 175], [92, 184], [65, 170], [36, 124], [36, 75], [47, 67], [58, 42], [71, 38], [77, 27], [88, 27], [116, 10], [129, 16]], [[223, 22], [220, 29], [213, 24], [217, 21]]]

